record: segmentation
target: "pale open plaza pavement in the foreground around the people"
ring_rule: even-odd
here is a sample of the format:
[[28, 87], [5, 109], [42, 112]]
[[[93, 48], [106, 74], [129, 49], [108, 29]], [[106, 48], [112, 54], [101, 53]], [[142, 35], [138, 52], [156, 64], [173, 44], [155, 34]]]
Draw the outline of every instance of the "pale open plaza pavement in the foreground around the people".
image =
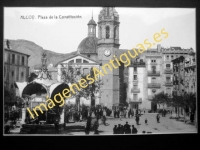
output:
[[[120, 120], [119, 118], [113, 118], [108, 117], [106, 123], [107, 126], [100, 124], [99, 125], [99, 134], [100, 135], [113, 135], [113, 127], [114, 125], [124, 125], [126, 122], [129, 123], [129, 125], [134, 125], [137, 130], [138, 134], [143, 134], [143, 131], [151, 132], [150, 134], [178, 134], [178, 133], [197, 133], [197, 128], [194, 124], [191, 124], [189, 122], [184, 123], [182, 121], [178, 121], [176, 119], [170, 119], [170, 114], [167, 114], [165, 117], [160, 116], [160, 123], [157, 123], [156, 120], [157, 113], [145, 113], [141, 115], [139, 126], [136, 125], [135, 117], [133, 118], [122, 118]], [[148, 125], [145, 124], [145, 119], [148, 120]], [[99, 120], [99, 123], [101, 121]], [[85, 135], [84, 132], [84, 126], [86, 122], [75, 122], [66, 124], [66, 128], [76, 127], [80, 126], [82, 127], [81, 130], [65, 130], [63, 133], [59, 134], [61, 136], [63, 135]], [[12, 134], [19, 134], [20, 128], [15, 128], [11, 130]], [[94, 131], [91, 131], [89, 135], [94, 135]]]

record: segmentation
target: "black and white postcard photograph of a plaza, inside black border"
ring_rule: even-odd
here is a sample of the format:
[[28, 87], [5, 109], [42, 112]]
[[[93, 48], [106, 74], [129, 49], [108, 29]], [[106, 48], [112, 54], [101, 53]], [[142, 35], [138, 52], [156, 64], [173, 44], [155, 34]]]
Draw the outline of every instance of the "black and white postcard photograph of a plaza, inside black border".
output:
[[196, 134], [196, 8], [4, 7], [4, 136]]

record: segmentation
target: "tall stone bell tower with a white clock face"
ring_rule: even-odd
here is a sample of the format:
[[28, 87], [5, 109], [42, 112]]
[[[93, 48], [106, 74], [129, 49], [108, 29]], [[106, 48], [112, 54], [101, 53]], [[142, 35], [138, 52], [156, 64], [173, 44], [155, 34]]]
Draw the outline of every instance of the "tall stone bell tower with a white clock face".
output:
[[[98, 60], [102, 64], [109, 64], [117, 57], [119, 51], [119, 15], [114, 7], [103, 7], [98, 16]], [[117, 65], [117, 62], [114, 62]], [[102, 77], [100, 103], [111, 108], [119, 104], [119, 68]]]

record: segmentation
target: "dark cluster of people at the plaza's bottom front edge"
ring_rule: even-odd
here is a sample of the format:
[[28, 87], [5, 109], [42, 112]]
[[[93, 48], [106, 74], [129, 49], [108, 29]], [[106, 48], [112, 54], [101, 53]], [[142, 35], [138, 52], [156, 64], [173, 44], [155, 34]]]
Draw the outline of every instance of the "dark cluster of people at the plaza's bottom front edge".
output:
[[134, 127], [134, 125], [132, 125], [132, 129], [131, 129], [131, 125], [128, 124], [128, 122], [126, 122], [125, 125], [121, 125], [118, 124], [114, 126], [113, 128], [113, 134], [137, 134], [137, 129]]

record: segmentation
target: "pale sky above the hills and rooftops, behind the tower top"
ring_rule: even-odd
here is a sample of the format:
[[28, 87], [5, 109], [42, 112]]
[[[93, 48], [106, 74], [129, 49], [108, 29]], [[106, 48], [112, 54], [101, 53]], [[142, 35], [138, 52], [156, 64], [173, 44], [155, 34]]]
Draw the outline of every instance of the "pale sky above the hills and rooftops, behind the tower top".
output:
[[[24, 39], [46, 50], [70, 53], [87, 37], [92, 14], [97, 23], [101, 10], [102, 7], [4, 7], [4, 39]], [[120, 49], [132, 49], [145, 39], [151, 41], [155, 33], [165, 29], [169, 36], [159, 42], [162, 47], [196, 51], [194, 8], [115, 7], [115, 10], [119, 14]], [[70, 15], [80, 18], [59, 18]]]

